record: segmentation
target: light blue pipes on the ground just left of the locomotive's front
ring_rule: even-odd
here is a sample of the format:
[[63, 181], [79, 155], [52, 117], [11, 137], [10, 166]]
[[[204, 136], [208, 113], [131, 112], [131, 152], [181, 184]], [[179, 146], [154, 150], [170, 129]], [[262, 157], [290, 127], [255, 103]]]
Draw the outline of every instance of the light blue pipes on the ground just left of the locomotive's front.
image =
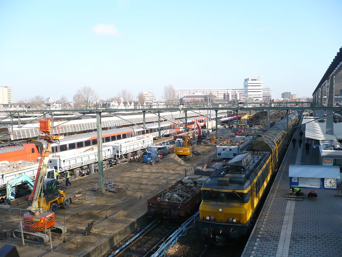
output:
[[189, 228], [193, 228], [195, 226], [195, 222], [196, 220], [199, 218], [199, 211], [197, 211], [195, 213], [194, 216], [190, 217], [187, 221], [185, 221], [181, 227], [179, 227], [175, 232], [173, 232], [168, 238], [167, 240], [165, 240], [165, 242], [163, 244], [160, 245], [159, 249], [153, 254], [151, 255], [151, 257], [157, 257], [157, 256], [165, 256], [165, 253], [167, 252], [167, 250], [174, 245], [175, 243], [177, 243], [177, 239], [181, 236], [185, 236], [186, 235], [186, 231]]

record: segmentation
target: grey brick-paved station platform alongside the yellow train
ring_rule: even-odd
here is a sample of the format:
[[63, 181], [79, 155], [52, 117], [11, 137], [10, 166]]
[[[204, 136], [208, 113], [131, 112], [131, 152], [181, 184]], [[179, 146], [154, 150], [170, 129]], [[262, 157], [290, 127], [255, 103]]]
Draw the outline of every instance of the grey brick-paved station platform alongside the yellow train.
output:
[[[302, 188], [302, 201], [287, 200], [289, 165], [318, 165], [319, 149], [298, 148], [297, 139], [286, 152], [259, 218], [241, 256], [342, 256], [342, 198], [337, 190], [316, 189], [318, 197], [307, 198], [310, 189]], [[305, 144], [305, 134], [303, 145]]]

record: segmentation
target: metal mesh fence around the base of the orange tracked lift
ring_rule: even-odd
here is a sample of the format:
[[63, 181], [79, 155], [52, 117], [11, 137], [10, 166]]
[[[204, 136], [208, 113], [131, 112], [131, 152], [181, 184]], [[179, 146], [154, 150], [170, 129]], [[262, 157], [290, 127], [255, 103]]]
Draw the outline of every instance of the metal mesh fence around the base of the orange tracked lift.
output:
[[[47, 218], [45, 218], [47, 217]], [[52, 217], [52, 218], [51, 218]], [[47, 222], [53, 222], [51, 211], [43, 211], [38, 216], [30, 215], [27, 209], [0, 206], [0, 238], [18, 240], [25, 245], [25, 241], [47, 243], [49, 230]]]

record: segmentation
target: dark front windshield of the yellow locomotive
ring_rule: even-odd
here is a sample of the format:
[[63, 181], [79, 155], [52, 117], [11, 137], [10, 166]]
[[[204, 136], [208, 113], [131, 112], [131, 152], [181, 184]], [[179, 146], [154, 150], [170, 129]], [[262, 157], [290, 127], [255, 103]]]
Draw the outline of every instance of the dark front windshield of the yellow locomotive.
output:
[[226, 203], [248, 203], [250, 193], [238, 193], [238, 192], [218, 192], [212, 190], [202, 190], [202, 199], [215, 202]]

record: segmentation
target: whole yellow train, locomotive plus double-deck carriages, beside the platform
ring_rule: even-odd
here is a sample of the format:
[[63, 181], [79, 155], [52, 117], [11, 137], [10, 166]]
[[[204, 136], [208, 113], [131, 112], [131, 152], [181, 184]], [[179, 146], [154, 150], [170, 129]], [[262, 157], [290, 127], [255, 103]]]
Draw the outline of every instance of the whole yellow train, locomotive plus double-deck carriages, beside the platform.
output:
[[[289, 114], [253, 143], [253, 153], [245, 153], [223, 163], [203, 184], [199, 207], [199, 229], [216, 244], [245, 235], [253, 225], [253, 215], [273, 173], [285, 154], [298, 114]], [[287, 124], [288, 120], [288, 124]], [[289, 130], [287, 130], [287, 128]]]

